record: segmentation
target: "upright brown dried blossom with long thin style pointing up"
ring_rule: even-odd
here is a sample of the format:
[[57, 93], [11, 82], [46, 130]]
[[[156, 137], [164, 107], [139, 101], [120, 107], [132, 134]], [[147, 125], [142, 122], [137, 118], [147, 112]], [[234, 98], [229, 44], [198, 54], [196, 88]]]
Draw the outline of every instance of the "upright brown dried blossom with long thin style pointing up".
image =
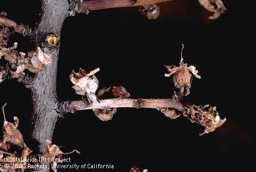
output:
[[[173, 74], [174, 86], [180, 89], [180, 95], [187, 96], [190, 93], [190, 87], [192, 82], [192, 75], [190, 74], [190, 72], [197, 78], [201, 78], [201, 76], [197, 75], [198, 71], [194, 66], [188, 67], [188, 64], [183, 62], [183, 58], [182, 58], [183, 49], [184, 49], [184, 45], [182, 44], [180, 67], [165, 65], [165, 67], [170, 72], [169, 74], [165, 74], [165, 76], [169, 77], [170, 75]], [[185, 88], [187, 91], [184, 94]]]

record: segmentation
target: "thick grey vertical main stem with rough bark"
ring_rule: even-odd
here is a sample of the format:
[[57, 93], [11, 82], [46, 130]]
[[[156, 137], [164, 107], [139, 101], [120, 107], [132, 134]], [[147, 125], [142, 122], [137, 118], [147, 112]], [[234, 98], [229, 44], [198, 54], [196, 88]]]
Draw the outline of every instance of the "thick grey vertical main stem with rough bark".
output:
[[51, 47], [44, 40], [49, 34], [60, 36], [68, 9], [67, 0], [41, 0], [41, 17], [35, 29], [35, 46], [41, 47], [53, 59], [53, 63], [47, 64], [46, 69], [41, 70], [30, 85], [33, 100], [32, 137], [39, 142], [40, 152], [46, 150], [45, 140], [52, 140], [54, 126], [58, 119], [55, 109], [58, 102], [56, 74], [60, 44]]

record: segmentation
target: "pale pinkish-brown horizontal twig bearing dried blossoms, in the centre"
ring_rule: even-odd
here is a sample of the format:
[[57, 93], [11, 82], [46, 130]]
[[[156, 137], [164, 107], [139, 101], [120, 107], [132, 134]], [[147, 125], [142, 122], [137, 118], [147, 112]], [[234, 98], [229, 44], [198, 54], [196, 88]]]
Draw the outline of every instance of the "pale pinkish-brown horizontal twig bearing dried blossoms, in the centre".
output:
[[104, 109], [113, 107], [136, 107], [162, 109], [170, 107], [179, 111], [184, 111], [184, 105], [181, 102], [174, 102], [173, 99], [131, 99], [131, 98], [113, 98], [103, 99], [100, 103], [87, 104], [85, 101], [66, 101], [58, 104], [60, 113], [75, 112], [81, 110]]

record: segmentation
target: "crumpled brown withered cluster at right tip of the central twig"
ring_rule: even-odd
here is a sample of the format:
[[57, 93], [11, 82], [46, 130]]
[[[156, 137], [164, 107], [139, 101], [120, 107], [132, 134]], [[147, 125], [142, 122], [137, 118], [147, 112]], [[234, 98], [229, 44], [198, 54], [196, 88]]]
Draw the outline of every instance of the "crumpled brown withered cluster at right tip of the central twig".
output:
[[187, 117], [192, 123], [197, 123], [205, 127], [204, 133], [213, 132], [216, 128], [222, 126], [226, 118], [221, 119], [217, 108], [210, 105], [197, 106], [189, 105], [186, 107], [186, 111], [183, 112], [183, 115]]

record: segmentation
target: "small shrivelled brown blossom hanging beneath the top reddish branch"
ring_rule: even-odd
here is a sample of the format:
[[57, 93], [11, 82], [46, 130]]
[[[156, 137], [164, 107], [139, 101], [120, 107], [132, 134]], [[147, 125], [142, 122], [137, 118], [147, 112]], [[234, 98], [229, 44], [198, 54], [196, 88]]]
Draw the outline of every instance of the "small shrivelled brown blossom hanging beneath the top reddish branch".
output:
[[148, 19], [157, 19], [160, 16], [160, 8], [157, 4], [144, 5], [139, 11]]

